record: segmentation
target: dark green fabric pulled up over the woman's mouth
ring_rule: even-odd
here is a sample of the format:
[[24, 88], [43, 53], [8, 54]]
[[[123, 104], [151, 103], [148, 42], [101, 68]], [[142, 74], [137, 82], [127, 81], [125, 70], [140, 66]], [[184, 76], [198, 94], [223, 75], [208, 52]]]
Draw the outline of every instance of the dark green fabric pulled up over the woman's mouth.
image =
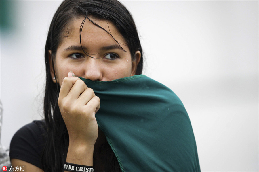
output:
[[200, 171], [190, 119], [172, 90], [145, 75], [81, 79], [100, 98], [96, 120], [122, 171]]

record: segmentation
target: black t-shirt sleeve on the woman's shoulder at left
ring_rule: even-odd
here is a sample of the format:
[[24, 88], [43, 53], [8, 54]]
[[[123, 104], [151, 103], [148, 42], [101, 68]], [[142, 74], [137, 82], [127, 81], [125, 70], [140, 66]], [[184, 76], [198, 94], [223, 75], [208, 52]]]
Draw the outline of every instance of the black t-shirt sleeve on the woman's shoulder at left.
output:
[[41, 160], [45, 136], [46, 127], [43, 120], [35, 120], [23, 126], [11, 140], [10, 159], [20, 159], [43, 169]]

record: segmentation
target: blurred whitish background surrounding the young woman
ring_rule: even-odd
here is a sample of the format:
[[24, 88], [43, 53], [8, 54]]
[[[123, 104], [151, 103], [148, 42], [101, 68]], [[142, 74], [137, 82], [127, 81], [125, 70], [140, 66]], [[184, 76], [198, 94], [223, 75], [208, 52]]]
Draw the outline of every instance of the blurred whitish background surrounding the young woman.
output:
[[[201, 170], [259, 171], [258, 1], [122, 2], [138, 28], [143, 73], [186, 107]], [[3, 146], [42, 118], [45, 40], [60, 3], [12, 1], [1, 12], [1, 24], [15, 19], [1, 26]]]

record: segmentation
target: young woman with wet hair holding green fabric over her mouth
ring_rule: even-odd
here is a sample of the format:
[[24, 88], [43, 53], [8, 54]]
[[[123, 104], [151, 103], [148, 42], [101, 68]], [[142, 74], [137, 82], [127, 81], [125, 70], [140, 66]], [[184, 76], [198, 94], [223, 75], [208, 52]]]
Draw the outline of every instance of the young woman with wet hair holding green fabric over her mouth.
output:
[[12, 166], [200, 171], [184, 106], [167, 87], [140, 75], [138, 33], [119, 1], [62, 2], [49, 28], [45, 62], [45, 119], [14, 135]]

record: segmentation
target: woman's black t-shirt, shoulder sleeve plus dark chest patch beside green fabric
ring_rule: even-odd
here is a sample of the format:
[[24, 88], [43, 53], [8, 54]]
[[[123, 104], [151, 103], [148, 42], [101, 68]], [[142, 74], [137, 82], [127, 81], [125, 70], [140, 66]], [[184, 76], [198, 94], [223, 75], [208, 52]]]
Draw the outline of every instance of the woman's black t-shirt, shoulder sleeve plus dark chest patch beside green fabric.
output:
[[[43, 169], [42, 153], [47, 141], [45, 120], [35, 120], [20, 128], [13, 136], [10, 144], [10, 159], [20, 159]], [[106, 141], [102, 146], [102, 160], [107, 165], [107, 171], [121, 171], [117, 158]], [[109, 155], [109, 156], [106, 156]], [[97, 167], [95, 167], [97, 168]], [[112, 168], [109, 169], [109, 168]]]

